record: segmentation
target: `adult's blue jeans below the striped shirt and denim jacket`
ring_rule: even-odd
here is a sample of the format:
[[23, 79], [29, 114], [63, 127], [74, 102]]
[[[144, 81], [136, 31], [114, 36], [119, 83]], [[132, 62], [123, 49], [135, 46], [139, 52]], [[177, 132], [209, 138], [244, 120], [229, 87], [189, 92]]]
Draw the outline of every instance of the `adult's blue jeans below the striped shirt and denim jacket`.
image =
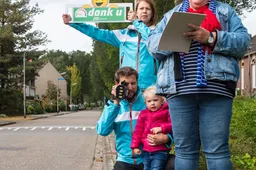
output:
[[197, 170], [202, 144], [208, 170], [231, 170], [229, 126], [233, 99], [190, 94], [168, 99], [175, 142], [175, 170]]

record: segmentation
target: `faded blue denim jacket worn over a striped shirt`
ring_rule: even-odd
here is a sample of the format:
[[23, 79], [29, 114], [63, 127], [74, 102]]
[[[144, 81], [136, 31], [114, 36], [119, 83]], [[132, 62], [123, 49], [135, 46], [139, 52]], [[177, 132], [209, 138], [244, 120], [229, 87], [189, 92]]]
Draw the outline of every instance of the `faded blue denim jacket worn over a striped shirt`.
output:
[[[173, 51], [159, 50], [158, 45], [169, 18], [173, 12], [179, 11], [180, 7], [181, 4], [164, 15], [156, 28], [150, 32], [146, 42], [149, 52], [160, 61], [156, 82], [159, 94], [176, 93], [174, 53]], [[212, 53], [208, 54], [206, 51], [205, 54], [206, 79], [237, 82], [240, 75], [238, 59], [246, 53], [250, 44], [250, 35], [235, 10], [228, 4], [217, 2], [216, 17], [221, 24], [221, 30], [216, 30], [217, 40]]]

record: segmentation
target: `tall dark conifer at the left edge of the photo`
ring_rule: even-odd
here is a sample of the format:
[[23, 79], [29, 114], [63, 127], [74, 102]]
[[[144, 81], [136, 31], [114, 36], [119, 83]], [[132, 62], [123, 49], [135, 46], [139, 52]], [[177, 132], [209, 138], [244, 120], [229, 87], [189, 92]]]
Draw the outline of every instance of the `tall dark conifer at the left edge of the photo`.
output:
[[[0, 91], [6, 96], [14, 89], [22, 89], [22, 56], [27, 50], [47, 42], [41, 31], [31, 31], [33, 17], [42, 13], [38, 5], [29, 6], [29, 0], [0, 0]], [[29, 54], [29, 53], [27, 53]], [[19, 95], [18, 95], [19, 96]], [[7, 112], [0, 99], [0, 112]], [[10, 99], [7, 100], [9, 101]], [[18, 100], [18, 98], [16, 98]], [[8, 102], [7, 104], [12, 101]], [[7, 105], [8, 108], [8, 105]]]

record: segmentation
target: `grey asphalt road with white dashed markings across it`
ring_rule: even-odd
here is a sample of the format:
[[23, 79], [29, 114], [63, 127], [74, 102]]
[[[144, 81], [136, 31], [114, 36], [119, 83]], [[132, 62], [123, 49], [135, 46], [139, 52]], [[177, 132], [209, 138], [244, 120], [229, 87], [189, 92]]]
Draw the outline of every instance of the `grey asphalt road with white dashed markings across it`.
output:
[[100, 111], [0, 127], [1, 170], [89, 170]]

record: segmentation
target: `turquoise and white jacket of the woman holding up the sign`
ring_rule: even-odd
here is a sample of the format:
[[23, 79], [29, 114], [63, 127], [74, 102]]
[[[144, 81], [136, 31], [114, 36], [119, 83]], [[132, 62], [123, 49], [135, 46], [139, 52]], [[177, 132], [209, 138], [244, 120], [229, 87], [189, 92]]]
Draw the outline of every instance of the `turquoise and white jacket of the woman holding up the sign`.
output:
[[120, 67], [129, 66], [139, 73], [138, 84], [141, 89], [155, 84], [158, 62], [148, 52], [145, 39], [141, 39], [139, 58], [137, 59], [138, 34], [134, 26], [130, 25], [122, 30], [104, 30], [88, 24], [70, 24], [71, 27], [79, 30], [87, 36], [119, 48]]

